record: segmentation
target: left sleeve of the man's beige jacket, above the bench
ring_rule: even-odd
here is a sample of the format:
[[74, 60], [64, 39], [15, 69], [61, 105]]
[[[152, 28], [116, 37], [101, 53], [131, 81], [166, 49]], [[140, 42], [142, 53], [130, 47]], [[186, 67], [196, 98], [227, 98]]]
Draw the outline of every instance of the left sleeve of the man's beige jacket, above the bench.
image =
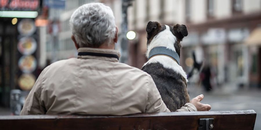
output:
[[41, 102], [41, 91], [42, 91], [42, 81], [43, 81], [43, 72], [39, 75], [38, 79], [35, 82], [32, 90], [30, 91], [26, 101], [23, 105], [23, 109], [20, 115], [35, 115], [35, 114], [46, 114], [46, 109], [43, 103]]

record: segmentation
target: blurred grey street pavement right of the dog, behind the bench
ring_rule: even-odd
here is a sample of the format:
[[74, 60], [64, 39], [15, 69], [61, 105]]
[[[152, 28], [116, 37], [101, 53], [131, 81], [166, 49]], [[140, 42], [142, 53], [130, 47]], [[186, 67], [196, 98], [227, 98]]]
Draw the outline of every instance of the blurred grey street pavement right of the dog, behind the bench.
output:
[[235, 85], [204, 92], [200, 87], [188, 86], [189, 95], [194, 98], [204, 94], [202, 103], [210, 104], [211, 111], [254, 110], [257, 113], [255, 130], [261, 130], [261, 90], [239, 90]]

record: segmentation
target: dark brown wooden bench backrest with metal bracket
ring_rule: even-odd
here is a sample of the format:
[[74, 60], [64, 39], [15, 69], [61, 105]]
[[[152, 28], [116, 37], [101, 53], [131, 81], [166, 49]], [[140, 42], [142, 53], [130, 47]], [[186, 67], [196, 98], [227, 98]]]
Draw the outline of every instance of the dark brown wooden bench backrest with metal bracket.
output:
[[0, 116], [0, 130], [253, 130], [255, 118], [254, 110], [169, 112], [127, 116]]

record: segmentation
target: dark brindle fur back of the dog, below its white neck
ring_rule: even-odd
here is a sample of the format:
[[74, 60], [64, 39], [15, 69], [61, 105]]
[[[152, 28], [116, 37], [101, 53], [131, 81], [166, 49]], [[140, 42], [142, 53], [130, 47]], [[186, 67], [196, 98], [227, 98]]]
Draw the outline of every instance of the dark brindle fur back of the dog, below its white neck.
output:
[[179, 73], [170, 68], [164, 68], [160, 63], [151, 63], [142, 67], [153, 78], [162, 100], [170, 109], [175, 112], [184, 104], [189, 103], [187, 92], [187, 81]]

